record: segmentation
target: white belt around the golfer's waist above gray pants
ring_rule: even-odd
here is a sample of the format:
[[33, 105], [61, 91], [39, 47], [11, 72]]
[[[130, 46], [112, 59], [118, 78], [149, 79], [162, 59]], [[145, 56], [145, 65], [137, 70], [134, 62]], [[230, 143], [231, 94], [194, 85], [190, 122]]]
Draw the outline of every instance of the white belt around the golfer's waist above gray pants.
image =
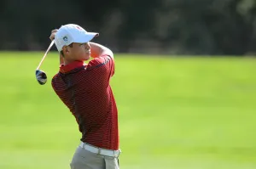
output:
[[79, 147], [86, 149], [86, 150], [90, 151], [91, 153], [95, 153], [97, 155], [111, 156], [111, 157], [115, 157], [115, 158], [118, 158], [121, 153], [120, 150], [102, 149], [99, 147], [92, 146], [90, 144], [86, 144], [84, 142], [81, 142], [79, 144]]

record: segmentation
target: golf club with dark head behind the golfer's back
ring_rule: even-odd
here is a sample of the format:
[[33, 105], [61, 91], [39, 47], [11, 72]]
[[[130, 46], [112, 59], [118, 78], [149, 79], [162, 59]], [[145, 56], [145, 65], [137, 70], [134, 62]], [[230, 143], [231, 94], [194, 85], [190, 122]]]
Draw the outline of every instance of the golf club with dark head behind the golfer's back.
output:
[[46, 55], [48, 54], [50, 48], [53, 46], [54, 43], [55, 43], [54, 41], [50, 42], [49, 48], [47, 48], [47, 50], [44, 54], [44, 57], [43, 57], [43, 59], [41, 59], [41, 62], [39, 63], [38, 68], [36, 70], [36, 78], [40, 85], [44, 85], [47, 82], [47, 76], [43, 70], [39, 70], [39, 69], [40, 69], [40, 66], [42, 65], [42, 63], [44, 62], [44, 59], [45, 59]]

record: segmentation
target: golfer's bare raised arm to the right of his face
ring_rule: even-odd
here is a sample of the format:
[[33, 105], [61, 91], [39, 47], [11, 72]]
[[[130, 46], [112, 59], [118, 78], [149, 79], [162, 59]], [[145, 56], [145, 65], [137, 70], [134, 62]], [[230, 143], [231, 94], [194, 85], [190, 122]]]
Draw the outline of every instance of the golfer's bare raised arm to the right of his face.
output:
[[109, 48], [104, 47], [96, 42], [90, 42], [90, 56], [92, 58], [97, 58], [104, 54], [107, 54], [113, 58], [113, 52]]

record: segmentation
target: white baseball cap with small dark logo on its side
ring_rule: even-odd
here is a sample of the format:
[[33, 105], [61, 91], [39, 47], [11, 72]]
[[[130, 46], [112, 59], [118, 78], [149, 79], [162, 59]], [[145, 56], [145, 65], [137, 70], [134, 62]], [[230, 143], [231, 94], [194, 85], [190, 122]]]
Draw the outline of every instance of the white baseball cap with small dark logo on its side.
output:
[[55, 45], [60, 52], [62, 47], [70, 45], [73, 42], [89, 42], [93, 37], [97, 36], [99, 36], [99, 33], [85, 31], [79, 25], [61, 25], [61, 28], [55, 34]]

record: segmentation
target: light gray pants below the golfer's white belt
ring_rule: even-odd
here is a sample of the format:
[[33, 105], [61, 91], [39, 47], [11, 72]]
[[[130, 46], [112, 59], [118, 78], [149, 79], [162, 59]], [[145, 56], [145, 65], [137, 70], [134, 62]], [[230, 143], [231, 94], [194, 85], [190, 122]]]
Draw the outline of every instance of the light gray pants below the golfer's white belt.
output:
[[119, 169], [119, 161], [118, 158], [96, 155], [78, 147], [73, 155], [70, 167], [71, 169]]

